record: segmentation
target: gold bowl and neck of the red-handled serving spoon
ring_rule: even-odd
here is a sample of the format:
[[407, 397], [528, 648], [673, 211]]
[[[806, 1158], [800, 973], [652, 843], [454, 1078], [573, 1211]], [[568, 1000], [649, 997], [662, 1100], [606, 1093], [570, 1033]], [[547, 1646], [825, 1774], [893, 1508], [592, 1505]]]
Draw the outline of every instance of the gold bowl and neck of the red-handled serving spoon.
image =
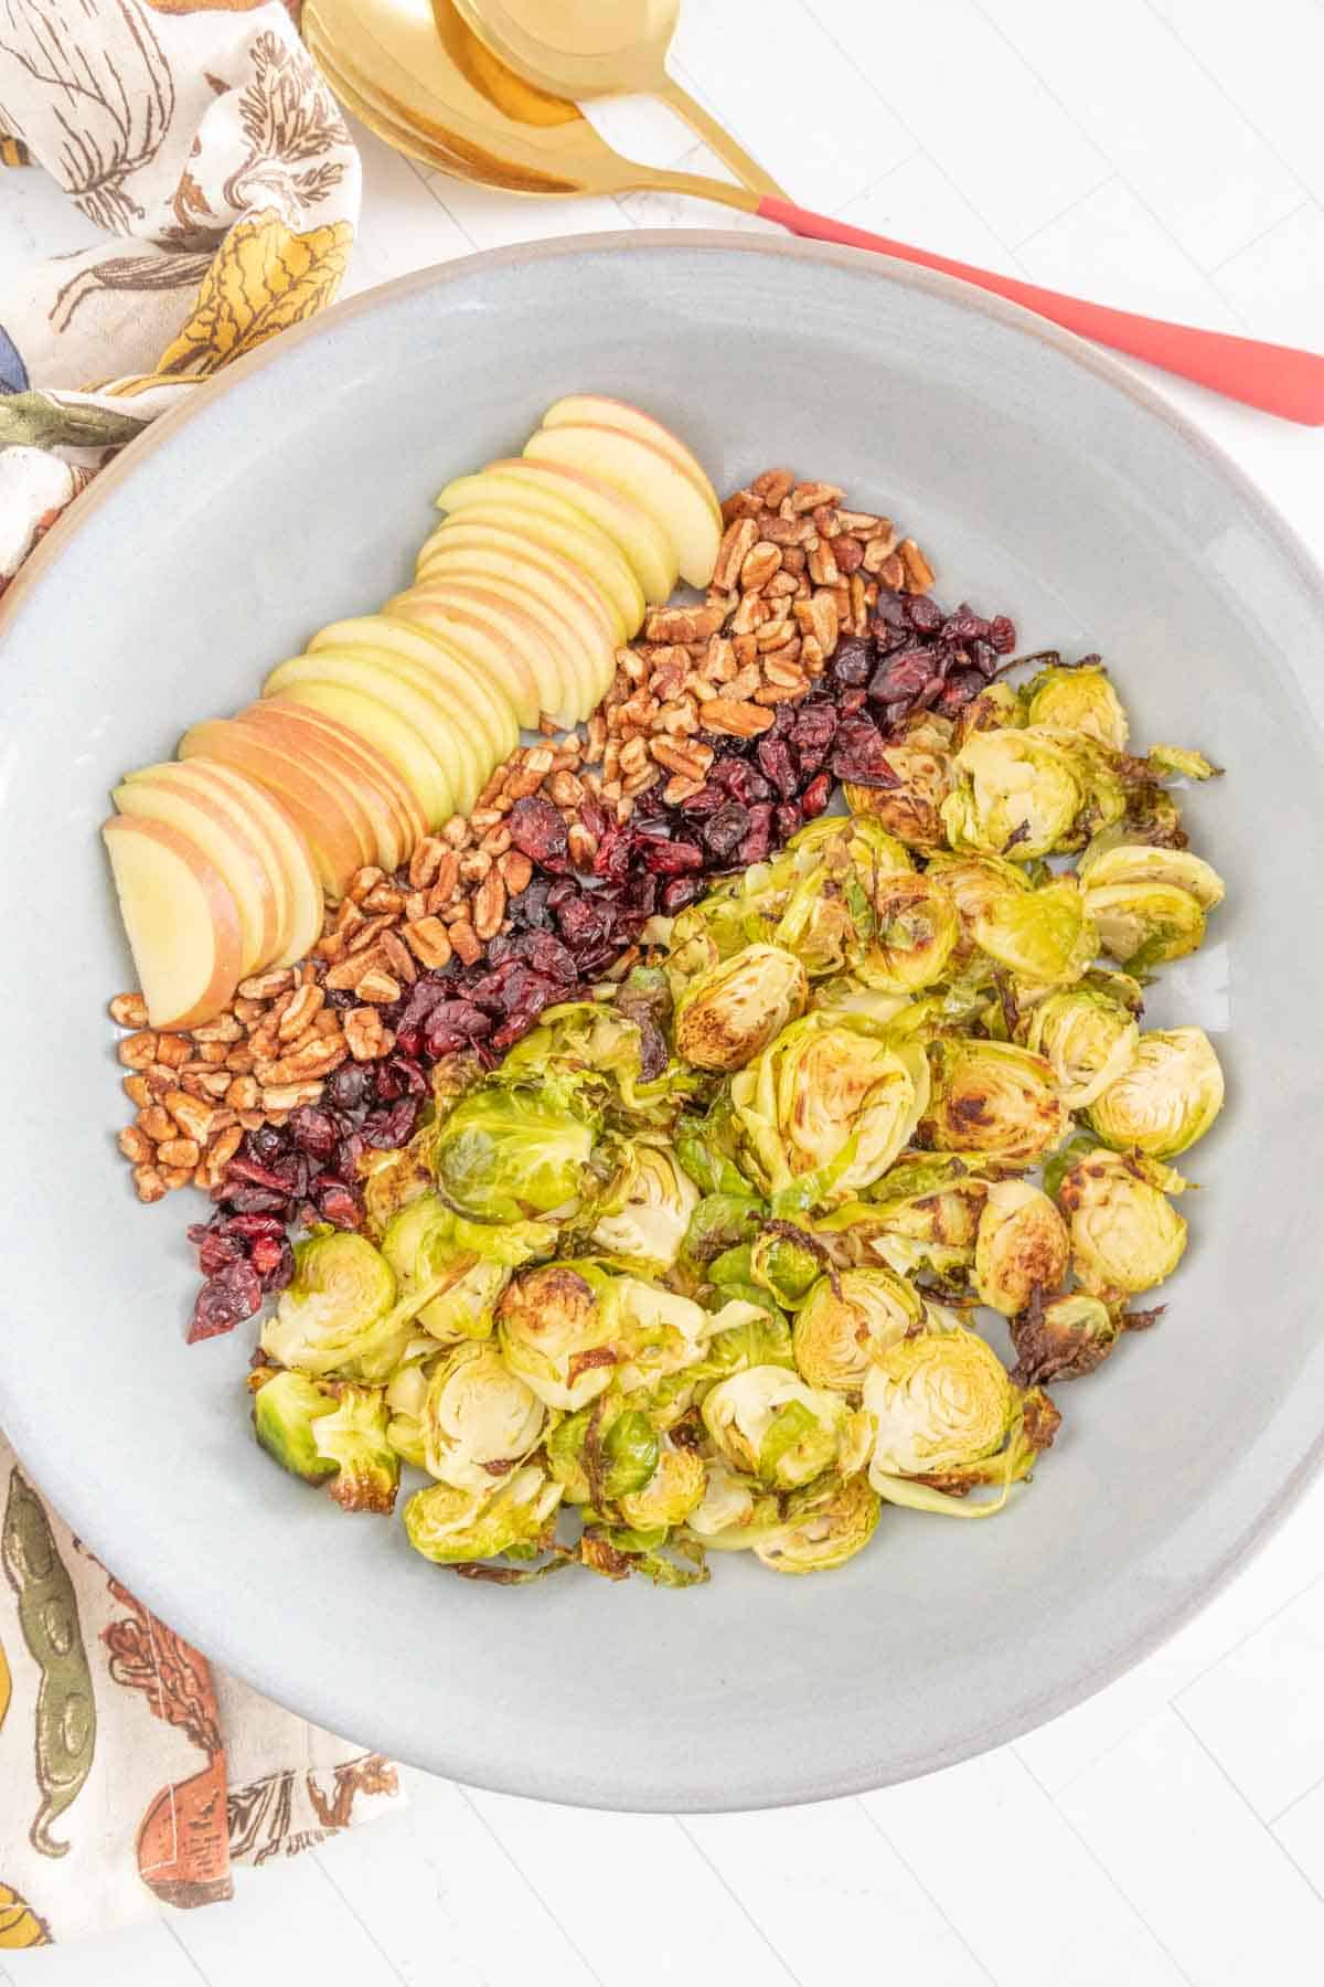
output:
[[514, 193], [661, 191], [740, 213], [758, 207], [756, 193], [725, 179], [623, 159], [574, 103], [504, 70], [449, 0], [306, 0], [304, 24], [331, 89], [343, 83], [365, 103], [365, 123], [401, 127], [415, 157], [419, 141], [447, 153], [425, 157], [441, 171]]

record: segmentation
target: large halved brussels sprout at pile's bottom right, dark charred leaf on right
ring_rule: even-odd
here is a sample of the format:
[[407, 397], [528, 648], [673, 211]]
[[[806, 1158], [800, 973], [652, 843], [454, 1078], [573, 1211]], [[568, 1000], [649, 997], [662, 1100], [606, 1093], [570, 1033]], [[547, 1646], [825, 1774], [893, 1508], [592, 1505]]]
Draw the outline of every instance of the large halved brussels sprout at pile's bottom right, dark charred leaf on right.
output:
[[[873, 1361], [863, 1405], [875, 1423], [869, 1482], [891, 1504], [991, 1518], [1056, 1433], [1046, 1395], [1022, 1397], [993, 1347], [965, 1325], [931, 1323]], [[965, 1504], [979, 1484], [989, 1502]]]

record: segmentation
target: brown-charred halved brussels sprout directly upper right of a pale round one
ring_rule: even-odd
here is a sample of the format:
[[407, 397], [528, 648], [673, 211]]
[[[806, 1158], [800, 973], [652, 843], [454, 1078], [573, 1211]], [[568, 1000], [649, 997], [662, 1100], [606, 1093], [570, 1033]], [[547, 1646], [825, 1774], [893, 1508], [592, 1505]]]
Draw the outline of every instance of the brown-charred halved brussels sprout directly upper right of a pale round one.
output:
[[597, 1301], [605, 1278], [588, 1282], [570, 1264], [516, 1276], [496, 1303], [506, 1365], [548, 1407], [574, 1415], [611, 1385], [619, 1349], [613, 1319]]

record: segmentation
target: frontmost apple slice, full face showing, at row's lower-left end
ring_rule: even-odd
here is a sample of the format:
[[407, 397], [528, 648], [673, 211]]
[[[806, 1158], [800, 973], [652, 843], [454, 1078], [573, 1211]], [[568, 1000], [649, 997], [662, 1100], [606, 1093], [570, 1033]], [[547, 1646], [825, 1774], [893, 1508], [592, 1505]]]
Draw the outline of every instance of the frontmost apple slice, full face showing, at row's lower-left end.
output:
[[220, 870], [165, 821], [113, 815], [101, 839], [149, 1025], [214, 1019], [234, 997], [244, 948]]

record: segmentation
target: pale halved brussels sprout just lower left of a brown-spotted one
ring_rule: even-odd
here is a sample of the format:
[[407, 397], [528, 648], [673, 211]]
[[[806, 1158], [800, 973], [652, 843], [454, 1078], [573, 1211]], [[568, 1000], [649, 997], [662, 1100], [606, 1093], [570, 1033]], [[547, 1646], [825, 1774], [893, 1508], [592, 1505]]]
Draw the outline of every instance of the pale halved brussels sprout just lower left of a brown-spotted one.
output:
[[423, 1403], [425, 1466], [457, 1490], [486, 1490], [538, 1445], [548, 1411], [494, 1345], [457, 1345]]

